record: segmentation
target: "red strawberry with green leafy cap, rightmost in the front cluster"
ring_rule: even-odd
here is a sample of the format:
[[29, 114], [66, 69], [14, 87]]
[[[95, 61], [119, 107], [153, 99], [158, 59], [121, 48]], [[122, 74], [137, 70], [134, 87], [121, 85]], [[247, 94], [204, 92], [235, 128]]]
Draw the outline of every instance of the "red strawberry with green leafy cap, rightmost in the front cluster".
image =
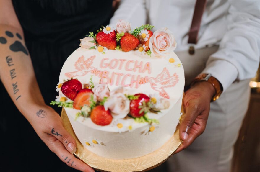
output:
[[132, 117], [142, 117], [145, 113], [149, 112], [150, 107], [148, 102], [150, 97], [145, 94], [135, 94], [134, 96], [139, 96], [138, 99], [130, 101], [130, 115]]

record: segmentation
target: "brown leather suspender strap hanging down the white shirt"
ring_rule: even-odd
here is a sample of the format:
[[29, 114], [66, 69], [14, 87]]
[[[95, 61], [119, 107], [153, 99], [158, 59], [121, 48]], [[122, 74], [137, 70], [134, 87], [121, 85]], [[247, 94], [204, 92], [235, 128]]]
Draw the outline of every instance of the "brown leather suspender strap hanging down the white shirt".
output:
[[[199, 28], [202, 21], [202, 15], [206, 7], [207, 0], [197, 0], [195, 4], [194, 14], [191, 22], [191, 28], [189, 31], [189, 44], [196, 44], [198, 41]], [[189, 49], [190, 54], [194, 54], [194, 47]]]

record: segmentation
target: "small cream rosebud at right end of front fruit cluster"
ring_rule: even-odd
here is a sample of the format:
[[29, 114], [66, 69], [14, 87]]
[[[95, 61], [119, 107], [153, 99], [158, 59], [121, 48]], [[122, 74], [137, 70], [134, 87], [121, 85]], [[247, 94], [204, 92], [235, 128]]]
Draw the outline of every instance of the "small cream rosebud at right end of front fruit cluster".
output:
[[170, 101], [168, 99], [164, 99], [159, 95], [150, 95], [152, 102], [152, 109], [154, 110], [163, 110], [168, 109], [170, 107]]

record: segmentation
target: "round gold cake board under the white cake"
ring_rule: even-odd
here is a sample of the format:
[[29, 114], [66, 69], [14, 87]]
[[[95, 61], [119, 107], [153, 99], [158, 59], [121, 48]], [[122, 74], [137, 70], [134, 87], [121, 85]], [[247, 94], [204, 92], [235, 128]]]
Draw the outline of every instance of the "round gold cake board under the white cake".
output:
[[61, 119], [63, 121], [65, 129], [76, 140], [77, 151], [74, 153], [74, 155], [83, 162], [85, 162], [87, 165], [98, 171], [147, 171], [164, 163], [168, 158], [170, 158], [171, 155], [173, 155], [173, 153], [182, 143], [179, 137], [178, 125], [176, 131], [174, 132], [170, 140], [168, 140], [168, 142], [166, 142], [161, 148], [155, 150], [150, 154], [132, 159], [108, 159], [90, 152], [81, 144], [81, 142], [78, 140], [77, 136], [75, 135], [72, 129], [72, 126], [69, 122], [69, 118], [64, 108], [62, 108], [61, 111]]

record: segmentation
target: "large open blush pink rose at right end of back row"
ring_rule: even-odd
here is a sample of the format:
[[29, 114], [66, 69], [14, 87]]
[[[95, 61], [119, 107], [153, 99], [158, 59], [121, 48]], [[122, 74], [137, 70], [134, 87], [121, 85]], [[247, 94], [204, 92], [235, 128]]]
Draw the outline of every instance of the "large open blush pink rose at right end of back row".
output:
[[175, 38], [167, 28], [161, 28], [153, 33], [149, 40], [149, 48], [155, 56], [165, 56], [176, 48]]

